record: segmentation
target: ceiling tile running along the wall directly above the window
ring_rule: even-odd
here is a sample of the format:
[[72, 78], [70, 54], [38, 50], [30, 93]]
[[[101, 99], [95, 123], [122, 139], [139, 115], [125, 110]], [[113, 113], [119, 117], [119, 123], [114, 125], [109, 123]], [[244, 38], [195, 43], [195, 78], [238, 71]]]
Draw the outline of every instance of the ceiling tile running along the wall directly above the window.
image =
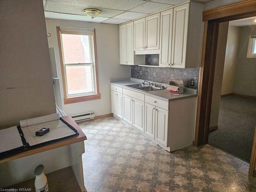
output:
[[72, 15], [72, 14], [55, 13], [55, 12], [49, 12], [49, 11], [45, 11], [45, 17], [55, 18], [55, 19], [64, 19], [64, 20], [79, 20], [81, 22], [94, 22], [94, 23], [100, 23], [100, 22], [103, 22], [103, 20], [108, 19], [107, 17], [96, 17], [92, 19], [91, 17], [86, 15]]

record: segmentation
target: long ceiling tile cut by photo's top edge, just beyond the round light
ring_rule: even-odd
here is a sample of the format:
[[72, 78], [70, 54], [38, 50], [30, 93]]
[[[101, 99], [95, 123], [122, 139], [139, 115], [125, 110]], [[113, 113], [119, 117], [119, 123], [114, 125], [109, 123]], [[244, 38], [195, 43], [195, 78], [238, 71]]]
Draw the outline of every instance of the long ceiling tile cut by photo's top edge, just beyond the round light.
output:
[[50, 0], [54, 2], [69, 3], [74, 5], [100, 7], [107, 9], [129, 10], [145, 3], [143, 0]]

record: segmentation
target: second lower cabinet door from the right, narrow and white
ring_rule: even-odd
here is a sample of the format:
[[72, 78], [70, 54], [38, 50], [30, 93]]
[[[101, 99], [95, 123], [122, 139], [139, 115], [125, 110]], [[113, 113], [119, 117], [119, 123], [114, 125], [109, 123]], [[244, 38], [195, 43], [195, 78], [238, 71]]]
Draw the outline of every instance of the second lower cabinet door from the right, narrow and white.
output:
[[145, 103], [145, 134], [155, 139], [155, 110], [152, 104]]

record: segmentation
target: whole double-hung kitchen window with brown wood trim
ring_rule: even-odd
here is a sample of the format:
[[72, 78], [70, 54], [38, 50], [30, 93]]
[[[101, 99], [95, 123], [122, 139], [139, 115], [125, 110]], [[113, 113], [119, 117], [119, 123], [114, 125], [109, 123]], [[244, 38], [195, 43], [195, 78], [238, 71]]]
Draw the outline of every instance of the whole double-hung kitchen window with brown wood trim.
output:
[[99, 99], [93, 29], [57, 27], [64, 103]]

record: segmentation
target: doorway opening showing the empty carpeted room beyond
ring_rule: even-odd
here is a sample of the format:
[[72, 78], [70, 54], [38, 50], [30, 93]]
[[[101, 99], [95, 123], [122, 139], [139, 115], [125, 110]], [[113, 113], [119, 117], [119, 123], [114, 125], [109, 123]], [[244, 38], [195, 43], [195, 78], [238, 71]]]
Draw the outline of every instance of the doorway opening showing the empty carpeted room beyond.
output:
[[256, 125], [256, 17], [220, 23], [208, 143], [250, 161]]

